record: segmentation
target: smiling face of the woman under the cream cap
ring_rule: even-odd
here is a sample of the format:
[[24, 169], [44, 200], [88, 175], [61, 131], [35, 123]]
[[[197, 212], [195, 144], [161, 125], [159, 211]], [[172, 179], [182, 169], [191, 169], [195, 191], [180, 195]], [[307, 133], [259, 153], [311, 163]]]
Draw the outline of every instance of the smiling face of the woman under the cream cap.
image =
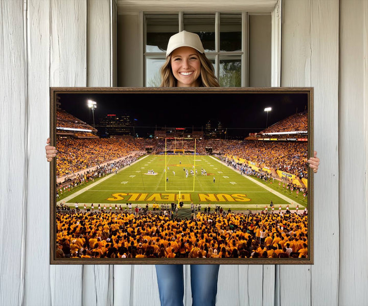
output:
[[171, 53], [171, 69], [177, 87], [197, 87], [201, 63], [198, 52], [191, 47], [182, 46]]

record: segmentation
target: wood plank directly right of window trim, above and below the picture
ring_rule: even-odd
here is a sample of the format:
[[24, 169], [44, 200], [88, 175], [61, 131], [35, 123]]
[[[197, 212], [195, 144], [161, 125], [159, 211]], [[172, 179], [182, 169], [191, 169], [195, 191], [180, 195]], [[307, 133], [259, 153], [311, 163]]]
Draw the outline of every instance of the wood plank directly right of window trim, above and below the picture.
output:
[[[284, 0], [282, 6], [281, 86], [311, 86], [310, 1]], [[310, 305], [310, 266], [280, 265], [277, 271], [280, 305], [295, 304], [290, 292], [298, 292], [298, 305]]]

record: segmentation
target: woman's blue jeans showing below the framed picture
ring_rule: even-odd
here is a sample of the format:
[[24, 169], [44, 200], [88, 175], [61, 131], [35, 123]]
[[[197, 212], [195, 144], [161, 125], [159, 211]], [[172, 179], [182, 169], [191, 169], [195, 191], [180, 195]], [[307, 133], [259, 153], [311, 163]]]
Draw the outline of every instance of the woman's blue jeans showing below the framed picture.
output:
[[[192, 306], [215, 306], [220, 265], [190, 265]], [[161, 306], [183, 306], [183, 265], [156, 265]]]

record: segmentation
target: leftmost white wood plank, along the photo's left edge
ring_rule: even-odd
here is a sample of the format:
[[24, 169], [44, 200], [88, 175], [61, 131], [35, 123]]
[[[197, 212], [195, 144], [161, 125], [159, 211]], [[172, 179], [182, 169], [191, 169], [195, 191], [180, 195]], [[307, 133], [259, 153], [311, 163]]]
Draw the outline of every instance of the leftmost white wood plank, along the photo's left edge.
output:
[[24, 296], [27, 209], [27, 69], [23, 1], [0, 3], [0, 304]]

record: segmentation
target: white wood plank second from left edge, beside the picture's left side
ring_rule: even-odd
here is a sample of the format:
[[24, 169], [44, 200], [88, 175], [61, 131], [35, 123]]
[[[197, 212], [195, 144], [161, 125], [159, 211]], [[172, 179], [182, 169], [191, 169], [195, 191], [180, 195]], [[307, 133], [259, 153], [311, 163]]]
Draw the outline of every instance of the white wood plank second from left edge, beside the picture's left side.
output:
[[27, 2], [28, 178], [24, 305], [51, 305], [49, 137], [50, 3]]

